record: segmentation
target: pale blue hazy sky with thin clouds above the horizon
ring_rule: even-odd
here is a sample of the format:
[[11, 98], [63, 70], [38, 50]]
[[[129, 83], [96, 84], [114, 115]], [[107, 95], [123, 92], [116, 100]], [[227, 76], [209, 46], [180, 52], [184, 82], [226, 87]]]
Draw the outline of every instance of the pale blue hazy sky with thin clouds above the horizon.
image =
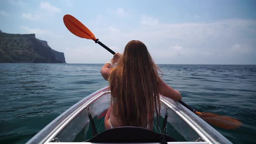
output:
[[140, 40], [157, 64], [256, 64], [255, 0], [0, 0], [0, 30], [35, 33], [67, 63], [105, 63], [112, 54], [66, 29], [82, 22], [122, 53]]

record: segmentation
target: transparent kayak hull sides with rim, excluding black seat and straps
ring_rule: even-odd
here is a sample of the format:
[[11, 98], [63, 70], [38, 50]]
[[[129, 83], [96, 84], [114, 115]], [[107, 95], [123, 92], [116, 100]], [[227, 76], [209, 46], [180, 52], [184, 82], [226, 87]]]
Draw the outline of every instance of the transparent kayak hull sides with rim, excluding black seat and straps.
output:
[[[96, 131], [100, 133], [105, 131], [104, 118], [110, 98], [111, 92], [108, 91], [108, 87], [92, 93], [59, 115], [26, 144], [51, 144], [53, 140], [65, 144], [76, 142], [82, 144], [82, 141], [93, 137], [86, 107], [89, 107]], [[161, 117], [158, 119], [158, 124], [156, 118], [154, 119], [153, 131], [161, 133], [166, 108], [168, 117], [165, 132], [178, 141], [168, 144], [232, 144], [183, 105], [163, 96], [161, 96]], [[202, 140], [203, 142], [197, 142]]]

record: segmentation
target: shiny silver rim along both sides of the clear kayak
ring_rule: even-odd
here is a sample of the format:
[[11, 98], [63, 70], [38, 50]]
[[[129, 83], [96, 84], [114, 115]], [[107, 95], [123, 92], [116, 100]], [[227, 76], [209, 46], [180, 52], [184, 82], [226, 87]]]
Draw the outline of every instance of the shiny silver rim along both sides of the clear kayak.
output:
[[[63, 130], [63, 128], [65, 128], [73, 120], [73, 118], [76, 117], [76, 115], [78, 115], [82, 110], [84, 110], [86, 106], [96, 101], [102, 95], [106, 95], [109, 93], [110, 92], [108, 91], [108, 86], [106, 86], [92, 93], [88, 97], [83, 98], [81, 101], [73, 105], [67, 111], [62, 113], [59, 117], [53, 120], [45, 128], [39, 131], [39, 133], [36, 134], [33, 138], [31, 138], [30, 141], [28, 141], [27, 143], [28, 144], [33, 143], [33, 140], [36, 140], [36, 138], [38, 137], [39, 137], [38, 143], [40, 144], [49, 143], [50, 141], [52, 141], [53, 138], [55, 138], [59, 134], [59, 132]], [[221, 135], [217, 130], [212, 128], [209, 124], [207, 124], [197, 115], [195, 115], [193, 112], [189, 111], [180, 103], [171, 101], [165, 97], [161, 97], [160, 100], [164, 105], [167, 105], [169, 108], [171, 108], [171, 110], [176, 115], [178, 115], [185, 123], [187, 123], [188, 126], [192, 128], [205, 141], [209, 142], [210, 144], [231, 143], [229, 140], [226, 139], [226, 137]], [[63, 118], [63, 115], [64, 115], [64, 118]], [[51, 128], [51, 129], [49, 131], [46, 131], [46, 128]]]

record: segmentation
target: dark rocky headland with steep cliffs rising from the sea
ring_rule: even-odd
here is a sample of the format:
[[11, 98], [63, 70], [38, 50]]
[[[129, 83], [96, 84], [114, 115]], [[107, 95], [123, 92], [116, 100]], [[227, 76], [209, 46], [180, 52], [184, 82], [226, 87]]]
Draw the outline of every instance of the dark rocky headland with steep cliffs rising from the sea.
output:
[[50, 48], [35, 34], [10, 34], [0, 31], [0, 62], [66, 63], [63, 52]]

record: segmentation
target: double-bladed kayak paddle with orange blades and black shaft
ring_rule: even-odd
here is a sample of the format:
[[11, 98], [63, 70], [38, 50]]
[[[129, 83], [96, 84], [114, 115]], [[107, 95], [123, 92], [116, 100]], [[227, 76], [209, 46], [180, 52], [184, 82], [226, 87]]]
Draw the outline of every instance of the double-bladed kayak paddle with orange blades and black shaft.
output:
[[[95, 43], [98, 43], [99, 45], [101, 45], [102, 47], [107, 49], [108, 52], [111, 52], [113, 55], [115, 55], [114, 51], [112, 51], [107, 46], [105, 46], [103, 43], [98, 41], [98, 39], [95, 38], [93, 33], [85, 25], [83, 25], [79, 20], [77, 20], [75, 17], [67, 14], [63, 17], [63, 21], [64, 21], [64, 24], [67, 27], [67, 29], [69, 29], [69, 31], [71, 33], [73, 33], [75, 36], [79, 36], [79, 37], [85, 38], [85, 39], [92, 39], [93, 41], [95, 41]], [[208, 123], [218, 126], [220, 128], [236, 129], [242, 124], [240, 121], [238, 121], [234, 118], [227, 117], [227, 116], [198, 112], [198, 111], [194, 110], [193, 108], [190, 108], [183, 101], [179, 101], [179, 102], [181, 103], [181, 105], [184, 105], [190, 111], [197, 114], [204, 121], [207, 121]]]

